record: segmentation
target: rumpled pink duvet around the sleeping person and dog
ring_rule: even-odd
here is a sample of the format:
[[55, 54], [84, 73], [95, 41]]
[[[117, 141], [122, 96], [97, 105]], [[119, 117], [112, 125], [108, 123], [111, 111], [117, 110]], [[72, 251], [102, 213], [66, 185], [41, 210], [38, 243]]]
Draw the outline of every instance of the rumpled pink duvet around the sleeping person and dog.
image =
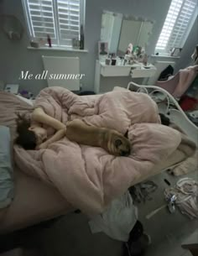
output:
[[128, 130], [129, 157], [115, 157], [104, 149], [70, 142], [67, 138], [48, 149], [25, 151], [15, 146], [21, 170], [55, 185], [73, 206], [87, 214], [103, 212], [139, 177], [152, 173], [180, 144], [181, 134], [160, 124], [158, 109], [150, 97], [132, 91], [111, 91], [79, 97], [60, 87], [40, 91], [35, 107], [66, 123], [81, 118], [98, 127]]

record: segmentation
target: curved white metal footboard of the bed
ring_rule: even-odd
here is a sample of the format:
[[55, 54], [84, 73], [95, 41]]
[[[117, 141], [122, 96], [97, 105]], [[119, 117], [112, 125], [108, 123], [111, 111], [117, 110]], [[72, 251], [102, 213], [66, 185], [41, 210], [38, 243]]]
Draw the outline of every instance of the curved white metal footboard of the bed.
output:
[[168, 91], [165, 91], [163, 88], [158, 86], [138, 85], [133, 81], [128, 83], [128, 90], [147, 93], [155, 102], [158, 103], [159, 112], [168, 116], [170, 121], [177, 124], [198, 146], [198, 127], [195, 126], [195, 123], [190, 121], [178, 102], [169, 94]]

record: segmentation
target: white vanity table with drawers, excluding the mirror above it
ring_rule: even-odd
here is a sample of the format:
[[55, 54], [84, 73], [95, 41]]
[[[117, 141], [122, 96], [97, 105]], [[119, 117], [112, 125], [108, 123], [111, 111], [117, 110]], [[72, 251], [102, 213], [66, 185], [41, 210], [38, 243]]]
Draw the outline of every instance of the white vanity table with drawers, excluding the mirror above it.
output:
[[133, 78], [152, 77], [156, 68], [152, 64], [143, 65], [143, 63], [133, 65], [106, 65], [105, 62], [96, 60], [94, 91], [100, 93], [101, 76], [128, 76]]

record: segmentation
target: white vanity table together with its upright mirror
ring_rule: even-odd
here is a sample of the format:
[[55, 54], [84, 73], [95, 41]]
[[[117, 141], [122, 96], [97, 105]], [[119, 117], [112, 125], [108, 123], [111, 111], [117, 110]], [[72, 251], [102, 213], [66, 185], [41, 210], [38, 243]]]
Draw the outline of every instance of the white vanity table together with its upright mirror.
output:
[[[141, 60], [138, 57], [142, 52], [137, 53], [135, 50], [141, 48], [144, 50], [144, 54], [146, 53], [148, 39], [152, 34], [153, 27], [154, 21], [148, 18], [112, 13], [107, 10], [102, 12], [101, 41], [98, 44], [99, 60], [96, 60], [94, 82], [96, 93], [112, 91], [114, 86], [126, 86], [133, 78], [140, 78], [141, 80], [141, 78], [154, 76], [156, 67], [152, 64], [145, 66], [142, 62], [138, 62], [137, 64], [123, 65], [122, 60], [117, 58], [116, 65], [106, 65], [108, 54], [124, 57], [129, 44], [132, 45], [133, 54], [137, 57], [134, 59]], [[101, 53], [104, 51], [102, 45], [107, 45], [106, 55]], [[133, 46], [136, 47], [133, 48]], [[131, 52], [128, 54], [130, 55]]]

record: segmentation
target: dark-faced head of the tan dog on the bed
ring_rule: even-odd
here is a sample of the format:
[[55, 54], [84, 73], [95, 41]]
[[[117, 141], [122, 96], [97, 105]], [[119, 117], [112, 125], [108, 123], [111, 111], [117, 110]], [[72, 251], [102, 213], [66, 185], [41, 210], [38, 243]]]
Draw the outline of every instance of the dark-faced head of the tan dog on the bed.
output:
[[124, 137], [121, 133], [116, 131], [112, 133], [108, 149], [117, 156], [128, 156], [131, 152], [131, 144], [128, 138]]

